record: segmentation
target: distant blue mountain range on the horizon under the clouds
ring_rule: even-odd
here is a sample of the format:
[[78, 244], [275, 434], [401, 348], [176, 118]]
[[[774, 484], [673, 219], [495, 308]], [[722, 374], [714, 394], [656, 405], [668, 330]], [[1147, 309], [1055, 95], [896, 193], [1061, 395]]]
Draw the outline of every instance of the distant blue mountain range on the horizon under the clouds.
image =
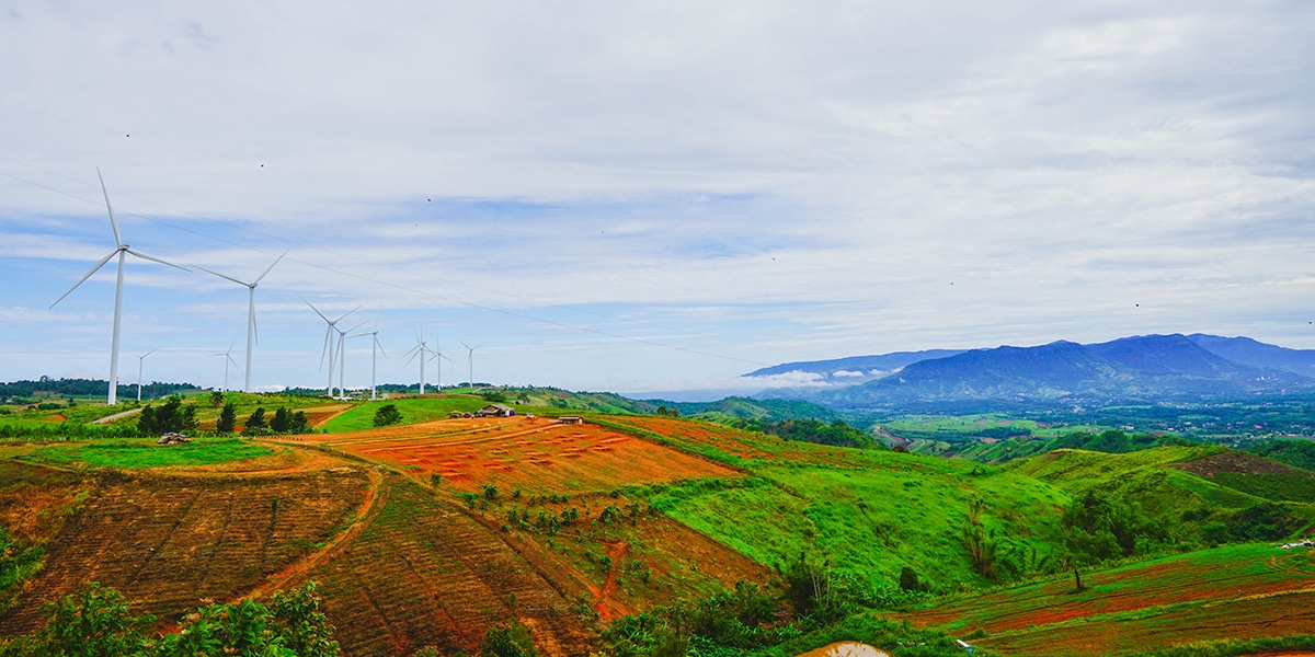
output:
[[764, 390], [759, 397], [803, 398], [838, 409], [1218, 402], [1315, 394], [1315, 351], [1251, 338], [1139, 335], [1098, 344], [1060, 340], [788, 363], [744, 376], [790, 373], [831, 385]]

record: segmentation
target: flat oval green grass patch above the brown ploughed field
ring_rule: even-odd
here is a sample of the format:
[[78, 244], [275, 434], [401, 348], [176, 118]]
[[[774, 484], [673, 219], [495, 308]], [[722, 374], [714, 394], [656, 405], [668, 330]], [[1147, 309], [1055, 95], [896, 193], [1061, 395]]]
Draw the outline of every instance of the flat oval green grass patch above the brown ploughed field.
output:
[[199, 439], [181, 445], [158, 445], [153, 439], [96, 440], [39, 445], [21, 459], [53, 465], [91, 468], [166, 468], [214, 465], [270, 456], [274, 449], [249, 440]]

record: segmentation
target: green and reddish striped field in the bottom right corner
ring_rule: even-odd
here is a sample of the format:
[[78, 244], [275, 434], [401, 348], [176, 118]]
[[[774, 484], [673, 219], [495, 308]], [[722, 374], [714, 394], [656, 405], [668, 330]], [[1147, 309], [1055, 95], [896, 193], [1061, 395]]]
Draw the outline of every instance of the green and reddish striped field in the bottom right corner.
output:
[[1005, 654], [1137, 654], [1201, 639], [1315, 632], [1315, 551], [1230, 545], [1018, 586], [902, 615]]

